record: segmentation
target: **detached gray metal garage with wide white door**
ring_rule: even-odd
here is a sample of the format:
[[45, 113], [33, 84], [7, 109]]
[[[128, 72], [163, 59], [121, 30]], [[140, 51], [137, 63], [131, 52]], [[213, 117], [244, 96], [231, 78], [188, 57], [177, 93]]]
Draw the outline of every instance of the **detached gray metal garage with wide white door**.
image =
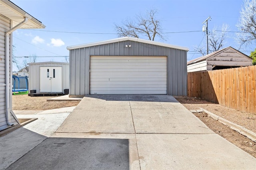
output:
[[70, 50], [70, 96], [187, 95], [188, 48], [122, 37], [67, 49]]

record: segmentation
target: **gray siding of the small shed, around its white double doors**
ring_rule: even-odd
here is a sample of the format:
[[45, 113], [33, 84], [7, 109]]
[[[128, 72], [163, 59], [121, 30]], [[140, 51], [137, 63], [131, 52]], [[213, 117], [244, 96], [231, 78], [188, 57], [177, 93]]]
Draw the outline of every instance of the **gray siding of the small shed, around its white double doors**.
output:
[[29, 64], [29, 82], [28, 82], [28, 92], [30, 90], [36, 90], [37, 93], [40, 92], [40, 67], [62, 67], [62, 92], [64, 89], [69, 88], [69, 64], [68, 63], [58, 63], [58, 62], [42, 62], [42, 63], [30, 63]]

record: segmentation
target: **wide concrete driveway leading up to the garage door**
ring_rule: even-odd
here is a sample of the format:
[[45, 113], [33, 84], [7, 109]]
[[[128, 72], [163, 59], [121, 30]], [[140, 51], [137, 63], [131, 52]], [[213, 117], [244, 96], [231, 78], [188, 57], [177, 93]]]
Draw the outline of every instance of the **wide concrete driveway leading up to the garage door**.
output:
[[[38, 159], [35, 159], [38, 158]], [[28, 166], [24, 166], [28, 160]], [[44, 163], [42, 163], [44, 162]], [[256, 159], [167, 95], [91, 95], [10, 169], [254, 169]]]

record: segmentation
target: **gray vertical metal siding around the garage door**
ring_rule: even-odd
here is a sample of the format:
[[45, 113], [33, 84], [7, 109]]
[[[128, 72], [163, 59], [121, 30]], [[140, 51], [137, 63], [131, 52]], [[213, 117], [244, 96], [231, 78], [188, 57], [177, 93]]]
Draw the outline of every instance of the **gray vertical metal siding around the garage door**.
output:
[[70, 50], [70, 95], [90, 93], [90, 56], [167, 56], [167, 94], [187, 96], [187, 51], [136, 41]]

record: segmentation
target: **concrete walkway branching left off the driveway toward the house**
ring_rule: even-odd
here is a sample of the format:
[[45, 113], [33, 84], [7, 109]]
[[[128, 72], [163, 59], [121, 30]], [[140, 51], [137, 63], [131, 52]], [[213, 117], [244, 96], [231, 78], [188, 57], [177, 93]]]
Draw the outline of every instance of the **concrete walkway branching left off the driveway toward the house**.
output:
[[18, 119], [38, 119], [0, 137], [0, 170], [7, 168], [53, 135], [74, 108], [65, 107], [44, 111], [14, 111]]

